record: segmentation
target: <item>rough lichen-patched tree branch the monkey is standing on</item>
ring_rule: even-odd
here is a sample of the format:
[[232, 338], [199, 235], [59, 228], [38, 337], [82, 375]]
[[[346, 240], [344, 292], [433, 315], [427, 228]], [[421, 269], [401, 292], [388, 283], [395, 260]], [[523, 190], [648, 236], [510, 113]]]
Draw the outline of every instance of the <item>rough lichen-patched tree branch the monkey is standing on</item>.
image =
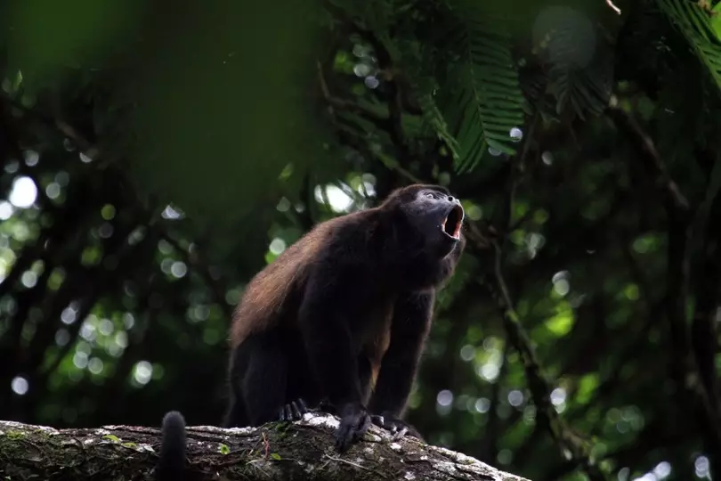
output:
[[[292, 424], [259, 428], [189, 427], [187, 478], [528, 481], [412, 437], [394, 440], [375, 426], [338, 454], [337, 425], [336, 417], [308, 413]], [[159, 447], [158, 428], [55, 429], [0, 421], [0, 474], [13, 481], [151, 479]]]

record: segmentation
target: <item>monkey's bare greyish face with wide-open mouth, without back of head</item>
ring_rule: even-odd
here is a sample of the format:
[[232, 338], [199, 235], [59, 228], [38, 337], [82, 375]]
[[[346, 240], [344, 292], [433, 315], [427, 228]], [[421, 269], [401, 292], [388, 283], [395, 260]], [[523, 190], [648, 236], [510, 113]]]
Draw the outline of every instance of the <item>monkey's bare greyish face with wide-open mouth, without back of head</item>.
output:
[[446, 257], [460, 241], [463, 207], [445, 189], [422, 186], [401, 208], [415, 227], [417, 240], [423, 240], [425, 252]]

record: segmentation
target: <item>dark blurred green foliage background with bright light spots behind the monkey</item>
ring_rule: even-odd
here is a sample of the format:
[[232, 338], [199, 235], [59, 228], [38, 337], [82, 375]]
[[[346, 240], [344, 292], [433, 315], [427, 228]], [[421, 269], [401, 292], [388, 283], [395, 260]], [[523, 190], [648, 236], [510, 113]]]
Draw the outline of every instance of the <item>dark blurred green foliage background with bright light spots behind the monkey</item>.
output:
[[711, 0], [4, 0], [0, 418], [217, 425], [244, 286], [447, 185], [409, 420], [534, 481], [721, 476]]

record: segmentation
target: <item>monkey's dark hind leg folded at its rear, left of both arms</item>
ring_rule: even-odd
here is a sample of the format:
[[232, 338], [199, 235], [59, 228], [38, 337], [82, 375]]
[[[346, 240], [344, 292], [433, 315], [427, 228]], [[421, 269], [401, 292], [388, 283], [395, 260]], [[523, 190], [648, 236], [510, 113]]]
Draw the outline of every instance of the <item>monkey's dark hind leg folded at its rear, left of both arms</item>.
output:
[[278, 420], [285, 408], [288, 355], [274, 330], [247, 338], [239, 349], [247, 355], [241, 392], [251, 426]]

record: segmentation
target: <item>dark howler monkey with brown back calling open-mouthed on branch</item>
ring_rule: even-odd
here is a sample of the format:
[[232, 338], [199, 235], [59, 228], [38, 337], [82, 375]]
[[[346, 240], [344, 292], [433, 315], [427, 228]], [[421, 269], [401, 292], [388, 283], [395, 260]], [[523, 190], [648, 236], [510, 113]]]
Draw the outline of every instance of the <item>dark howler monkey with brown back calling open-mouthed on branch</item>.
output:
[[401, 416], [435, 290], [466, 245], [463, 218], [447, 189], [409, 185], [316, 225], [256, 274], [233, 316], [224, 426], [299, 419], [306, 403], [328, 402], [341, 452], [371, 421], [409, 429]]

